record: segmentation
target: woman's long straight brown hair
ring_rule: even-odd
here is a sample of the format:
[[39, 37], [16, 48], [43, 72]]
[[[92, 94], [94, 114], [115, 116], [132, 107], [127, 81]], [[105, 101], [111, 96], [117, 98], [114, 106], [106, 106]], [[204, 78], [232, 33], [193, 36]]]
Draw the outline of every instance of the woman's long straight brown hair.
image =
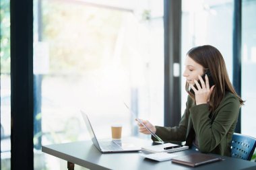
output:
[[[189, 50], [189, 52], [187, 52], [187, 56], [195, 60], [199, 65], [203, 66], [205, 70], [209, 69], [212, 78], [214, 79], [215, 87], [212, 91], [209, 102], [210, 112], [218, 108], [226, 91], [233, 93], [239, 99], [240, 104], [244, 105], [245, 101], [237, 95], [234, 87], [230, 83], [224, 58], [217, 48], [210, 45], [197, 46]], [[195, 95], [189, 91], [189, 83], [186, 83], [186, 91], [195, 101]]]

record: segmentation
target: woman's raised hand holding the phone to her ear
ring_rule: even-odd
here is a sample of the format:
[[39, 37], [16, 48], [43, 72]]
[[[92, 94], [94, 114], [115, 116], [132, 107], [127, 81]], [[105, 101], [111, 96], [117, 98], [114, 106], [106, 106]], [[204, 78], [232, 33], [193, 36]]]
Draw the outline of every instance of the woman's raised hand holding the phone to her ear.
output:
[[207, 103], [209, 101], [212, 91], [214, 90], [215, 85], [213, 85], [210, 89], [209, 79], [207, 75], [205, 75], [205, 82], [203, 81], [202, 77], [198, 75], [199, 81], [201, 86], [199, 85], [197, 80], [194, 80], [197, 89], [193, 85], [191, 88], [195, 92], [195, 103], [196, 105]]

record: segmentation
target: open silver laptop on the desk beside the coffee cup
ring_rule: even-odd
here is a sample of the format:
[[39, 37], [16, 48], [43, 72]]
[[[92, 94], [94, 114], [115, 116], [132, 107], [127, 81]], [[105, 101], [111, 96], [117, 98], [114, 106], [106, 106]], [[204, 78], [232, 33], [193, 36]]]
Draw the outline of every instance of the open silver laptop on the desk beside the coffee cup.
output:
[[92, 138], [92, 142], [98, 151], [101, 153], [123, 153], [123, 152], [132, 152], [132, 151], [141, 151], [141, 146], [136, 146], [135, 138], [125, 138], [122, 140], [112, 140], [112, 139], [103, 139], [98, 140], [92, 128], [92, 124], [86, 113], [81, 111], [82, 116], [84, 118], [84, 122], [86, 123], [86, 127], [90, 136]]

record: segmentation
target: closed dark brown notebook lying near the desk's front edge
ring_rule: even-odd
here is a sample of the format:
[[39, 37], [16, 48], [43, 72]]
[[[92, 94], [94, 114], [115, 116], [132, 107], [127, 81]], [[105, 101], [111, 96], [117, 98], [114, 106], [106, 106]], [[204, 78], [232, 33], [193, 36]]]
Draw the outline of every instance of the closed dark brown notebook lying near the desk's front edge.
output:
[[207, 155], [203, 153], [193, 153], [191, 155], [186, 155], [182, 157], [174, 157], [172, 159], [172, 163], [180, 163], [180, 164], [188, 165], [191, 167], [197, 167], [199, 165], [213, 163], [221, 160], [222, 159], [220, 157], [215, 157], [215, 156]]

